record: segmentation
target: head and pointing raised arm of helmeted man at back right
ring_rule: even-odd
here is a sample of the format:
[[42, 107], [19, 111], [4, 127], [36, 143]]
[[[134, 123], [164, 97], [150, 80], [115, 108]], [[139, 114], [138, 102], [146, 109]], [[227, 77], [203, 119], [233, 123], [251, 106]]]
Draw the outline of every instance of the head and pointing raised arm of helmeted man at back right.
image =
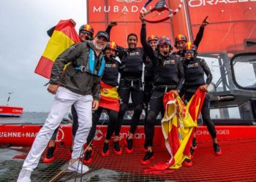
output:
[[[200, 41], [203, 39], [203, 31], [204, 28], [206, 27], [206, 25], [209, 24], [208, 20], [207, 20], [208, 16], [203, 20], [202, 24], [200, 25], [199, 31], [197, 32], [197, 36], [195, 37], [195, 41], [193, 41], [193, 44], [198, 48]], [[186, 44], [187, 42], [187, 36], [179, 34], [178, 36], [176, 36], [175, 38], [175, 44], [174, 47], [176, 47], [176, 52], [173, 52], [174, 55], [179, 55], [179, 56], [183, 56], [182, 55], [182, 49], [184, 44]]]

